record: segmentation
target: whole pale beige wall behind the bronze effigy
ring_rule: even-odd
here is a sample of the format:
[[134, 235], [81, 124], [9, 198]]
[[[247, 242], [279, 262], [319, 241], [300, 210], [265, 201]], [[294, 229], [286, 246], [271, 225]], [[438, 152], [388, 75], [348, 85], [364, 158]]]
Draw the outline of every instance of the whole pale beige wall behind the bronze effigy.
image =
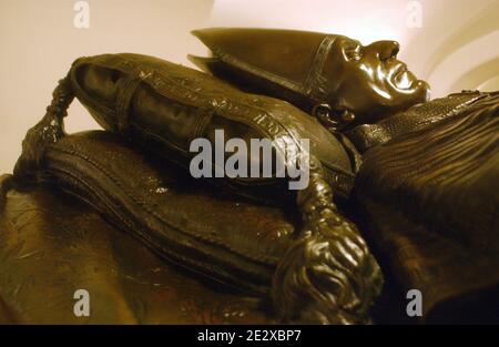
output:
[[[195, 28], [295, 28], [364, 43], [396, 39], [434, 96], [499, 89], [498, 0], [419, 0], [421, 28], [407, 25], [409, 0], [88, 0], [89, 29], [74, 28], [75, 2], [0, 0], [0, 173], [11, 171], [26, 131], [75, 58], [128, 51], [189, 64], [186, 53], [205, 53], [189, 33]], [[78, 102], [67, 123], [69, 132], [98, 126]]]

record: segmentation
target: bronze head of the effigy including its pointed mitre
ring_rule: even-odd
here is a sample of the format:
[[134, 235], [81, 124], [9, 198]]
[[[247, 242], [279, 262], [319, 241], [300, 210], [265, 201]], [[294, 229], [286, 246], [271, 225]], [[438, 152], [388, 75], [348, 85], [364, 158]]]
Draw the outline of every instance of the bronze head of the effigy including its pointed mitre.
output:
[[255, 93], [284, 99], [332, 126], [375, 123], [427, 101], [429, 85], [397, 59], [399, 44], [368, 45], [335, 34], [275, 29], [193, 32], [213, 57], [204, 70]]

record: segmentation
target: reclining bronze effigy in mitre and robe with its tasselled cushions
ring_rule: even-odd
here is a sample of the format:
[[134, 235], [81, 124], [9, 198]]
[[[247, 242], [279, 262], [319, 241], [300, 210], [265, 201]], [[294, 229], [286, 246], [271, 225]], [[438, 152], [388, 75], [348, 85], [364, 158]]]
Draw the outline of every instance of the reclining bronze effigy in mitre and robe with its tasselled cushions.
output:
[[[498, 245], [497, 94], [424, 103], [428, 85], [396, 59], [393, 41], [363, 47], [340, 35], [255, 29], [195, 34], [213, 57], [193, 61], [226, 82], [139, 54], [79, 59], [2, 190], [55, 183], [161, 256], [272, 297], [284, 322], [369, 322], [381, 276], [346, 216], [380, 252], [390, 283], [421, 288], [427, 315], [438, 316], [439, 304], [456, 297], [495, 297], [497, 253], [483, 245]], [[74, 96], [118, 134], [65, 136]], [[293, 194], [276, 177], [211, 181], [223, 196], [240, 195], [235, 202], [179, 178], [190, 141], [213, 141], [216, 129], [246, 141], [283, 139], [295, 153], [303, 150], [296, 140], [309, 137], [310, 184]], [[445, 253], [431, 248], [449, 243]], [[470, 276], [459, 279], [452, 258], [467, 262]]]

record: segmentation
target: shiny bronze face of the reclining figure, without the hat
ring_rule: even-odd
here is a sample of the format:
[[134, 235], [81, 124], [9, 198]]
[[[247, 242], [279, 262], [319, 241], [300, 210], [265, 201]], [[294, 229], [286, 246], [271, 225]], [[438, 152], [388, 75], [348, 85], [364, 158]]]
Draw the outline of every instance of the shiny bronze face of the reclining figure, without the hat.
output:
[[337, 37], [326, 68], [334, 76], [333, 106], [349, 110], [356, 123], [374, 123], [429, 99], [429, 85], [397, 60], [396, 41], [369, 45]]

